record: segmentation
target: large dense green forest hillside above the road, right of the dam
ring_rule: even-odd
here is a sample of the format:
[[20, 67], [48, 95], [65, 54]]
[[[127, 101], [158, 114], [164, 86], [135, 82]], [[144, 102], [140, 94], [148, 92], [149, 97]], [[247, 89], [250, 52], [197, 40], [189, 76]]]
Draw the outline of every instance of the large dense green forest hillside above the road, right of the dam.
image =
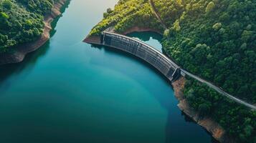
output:
[[[156, 0], [155, 0], [156, 1]], [[167, 9], [167, 1], [156, 1]], [[169, 1], [163, 46], [184, 69], [256, 102], [256, 2]], [[176, 15], [175, 18], [172, 16]]]

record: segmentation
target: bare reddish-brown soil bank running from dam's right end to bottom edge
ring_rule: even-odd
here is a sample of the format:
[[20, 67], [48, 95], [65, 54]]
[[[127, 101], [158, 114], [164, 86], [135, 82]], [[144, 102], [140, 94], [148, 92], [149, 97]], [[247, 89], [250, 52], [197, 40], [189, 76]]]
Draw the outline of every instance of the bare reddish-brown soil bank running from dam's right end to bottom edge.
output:
[[194, 122], [204, 127], [204, 129], [207, 129], [207, 131], [211, 133], [212, 137], [214, 137], [214, 139], [217, 139], [217, 141], [233, 142], [232, 139], [229, 139], [229, 137], [227, 137], [224, 129], [217, 122], [214, 122], [214, 120], [209, 117], [200, 118], [199, 114], [189, 106], [189, 103], [184, 98], [184, 94], [182, 91], [184, 89], [185, 81], [186, 79], [184, 77], [181, 77], [179, 80], [176, 80], [176, 82], [172, 83], [172, 86], [174, 87], [175, 97], [179, 100], [179, 109], [181, 109], [182, 112], [184, 112], [187, 116], [193, 119]]

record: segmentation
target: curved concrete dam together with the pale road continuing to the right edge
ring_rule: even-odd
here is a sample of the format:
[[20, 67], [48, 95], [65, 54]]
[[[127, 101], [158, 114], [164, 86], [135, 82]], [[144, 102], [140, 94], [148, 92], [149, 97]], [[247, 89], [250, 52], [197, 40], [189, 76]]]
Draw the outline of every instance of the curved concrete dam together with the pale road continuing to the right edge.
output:
[[162, 54], [160, 51], [154, 49], [152, 46], [149, 46], [148, 44], [143, 43], [142, 41], [109, 31], [103, 31], [100, 37], [91, 36], [85, 39], [84, 41], [90, 44], [110, 46], [115, 49], [120, 49], [122, 51], [126, 51], [130, 54], [133, 54], [134, 56], [137, 56], [143, 59], [144, 61], [147, 61], [149, 64], [158, 69], [158, 71], [161, 71], [161, 73], [165, 77], [167, 77], [167, 79], [169, 79], [171, 82], [174, 82], [176, 79], [179, 79], [181, 75], [184, 77], [189, 76], [197, 80], [198, 82], [207, 84], [209, 88], [214, 89], [216, 92], [222, 94], [224, 97], [227, 97], [232, 101], [237, 102], [238, 104], [242, 104], [245, 107], [248, 107], [249, 109], [256, 110], [255, 105], [245, 102], [237, 97], [234, 97], [231, 94], [224, 92], [223, 89], [215, 86], [211, 82], [208, 82], [207, 80], [204, 80], [194, 74], [191, 74], [189, 71], [186, 71], [185, 69], [181, 69], [177, 64], [174, 63], [174, 61], [171, 61], [171, 59]]

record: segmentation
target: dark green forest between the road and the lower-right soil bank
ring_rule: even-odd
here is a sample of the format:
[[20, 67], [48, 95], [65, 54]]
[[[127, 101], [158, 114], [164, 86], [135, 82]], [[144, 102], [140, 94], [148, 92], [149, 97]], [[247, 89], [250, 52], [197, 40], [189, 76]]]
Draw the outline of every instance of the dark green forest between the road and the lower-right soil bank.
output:
[[184, 95], [200, 117], [212, 117], [236, 142], [256, 142], [256, 112], [230, 101], [194, 79], [186, 80]]

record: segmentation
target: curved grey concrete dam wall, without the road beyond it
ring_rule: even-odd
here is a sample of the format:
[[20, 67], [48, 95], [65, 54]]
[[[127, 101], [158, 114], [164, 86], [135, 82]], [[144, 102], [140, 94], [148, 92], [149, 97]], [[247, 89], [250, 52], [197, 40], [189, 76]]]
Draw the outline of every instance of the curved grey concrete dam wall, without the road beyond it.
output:
[[120, 49], [133, 54], [134, 56], [137, 56], [154, 66], [171, 82], [174, 82], [181, 76], [181, 69], [174, 63], [174, 61], [171, 61], [171, 59], [162, 54], [160, 51], [137, 39], [123, 36], [121, 34], [103, 31], [100, 39], [94, 41], [85, 39], [85, 42], [110, 46], [115, 49]]

